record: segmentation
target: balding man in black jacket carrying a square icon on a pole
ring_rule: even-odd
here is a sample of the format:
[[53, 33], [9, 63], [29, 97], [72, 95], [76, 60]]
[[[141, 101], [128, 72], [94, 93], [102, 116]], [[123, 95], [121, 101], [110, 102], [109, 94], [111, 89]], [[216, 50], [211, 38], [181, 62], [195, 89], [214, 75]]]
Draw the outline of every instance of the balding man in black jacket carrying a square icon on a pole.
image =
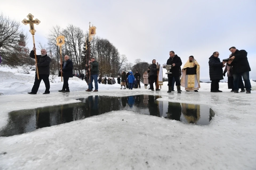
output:
[[62, 93], [70, 92], [69, 77], [73, 77], [73, 62], [69, 59], [68, 55], [64, 56], [64, 60], [65, 61], [63, 61], [62, 63], [62, 70], [60, 71], [63, 74], [63, 86], [62, 86], [62, 90], [59, 90], [59, 92], [62, 92]]

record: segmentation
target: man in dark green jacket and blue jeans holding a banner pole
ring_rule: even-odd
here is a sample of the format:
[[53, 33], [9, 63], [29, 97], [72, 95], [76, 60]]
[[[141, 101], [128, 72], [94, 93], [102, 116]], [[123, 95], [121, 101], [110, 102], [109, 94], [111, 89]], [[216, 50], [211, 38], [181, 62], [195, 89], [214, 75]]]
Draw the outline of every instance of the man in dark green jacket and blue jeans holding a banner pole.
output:
[[95, 85], [94, 92], [98, 92], [98, 73], [99, 73], [99, 63], [98, 61], [95, 61], [95, 58], [92, 57], [91, 61], [89, 61], [90, 68], [89, 71], [91, 73], [90, 80], [89, 81], [89, 89], [85, 90], [86, 92], [92, 91], [93, 81]]

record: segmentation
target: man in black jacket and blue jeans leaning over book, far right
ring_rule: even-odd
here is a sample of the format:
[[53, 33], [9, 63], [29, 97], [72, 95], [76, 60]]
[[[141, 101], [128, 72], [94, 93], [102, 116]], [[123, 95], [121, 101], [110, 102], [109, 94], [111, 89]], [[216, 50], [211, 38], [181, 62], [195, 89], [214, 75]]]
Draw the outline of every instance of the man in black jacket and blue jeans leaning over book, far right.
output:
[[243, 77], [245, 82], [246, 93], [251, 93], [251, 82], [249, 78], [249, 71], [251, 71], [247, 52], [245, 50], [238, 50], [235, 47], [230, 47], [229, 51], [232, 53], [229, 56], [229, 62], [227, 65], [233, 66], [233, 77], [234, 77], [234, 92], [238, 93], [239, 88], [239, 77]]

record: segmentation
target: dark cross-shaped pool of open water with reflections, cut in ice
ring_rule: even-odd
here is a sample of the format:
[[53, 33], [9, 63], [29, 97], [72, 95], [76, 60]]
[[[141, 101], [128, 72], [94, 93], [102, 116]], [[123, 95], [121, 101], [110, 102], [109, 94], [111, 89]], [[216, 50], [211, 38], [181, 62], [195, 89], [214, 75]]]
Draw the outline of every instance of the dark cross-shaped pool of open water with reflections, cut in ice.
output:
[[197, 125], [208, 125], [214, 116], [214, 111], [208, 106], [157, 101], [160, 97], [152, 95], [89, 96], [79, 98], [78, 100], [81, 101], [79, 103], [12, 111], [9, 113], [8, 124], [0, 131], [0, 136], [22, 134], [114, 110], [132, 110], [140, 114]]

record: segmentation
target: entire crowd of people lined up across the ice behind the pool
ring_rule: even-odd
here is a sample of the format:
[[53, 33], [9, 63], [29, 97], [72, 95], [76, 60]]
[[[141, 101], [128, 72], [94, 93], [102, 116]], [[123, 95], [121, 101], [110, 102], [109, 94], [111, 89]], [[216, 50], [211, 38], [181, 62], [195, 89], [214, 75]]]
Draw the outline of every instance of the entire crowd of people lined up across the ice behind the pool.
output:
[[[30, 52], [30, 57], [35, 59], [34, 51], [36, 48], [33, 47], [33, 50]], [[222, 92], [219, 90], [219, 81], [223, 80], [223, 76], [228, 77], [228, 88], [231, 89], [231, 92], [238, 93], [239, 88], [240, 92], [251, 93], [251, 84], [249, 79], [249, 72], [251, 71], [248, 59], [247, 52], [245, 50], [238, 50], [235, 47], [229, 48], [231, 54], [228, 59], [221, 61], [219, 59], [219, 52], [215, 51], [213, 55], [209, 58], [209, 75], [211, 80], [211, 92]], [[163, 65], [163, 68], [168, 69], [168, 91], [171, 93], [174, 91], [174, 84], [176, 83], [177, 92], [181, 93], [181, 86], [185, 87], [187, 92], [194, 91], [198, 92], [200, 88], [200, 65], [194, 59], [194, 56], [189, 56], [189, 59], [181, 68], [182, 61], [181, 58], [174, 53], [174, 51], [169, 52], [169, 59], [166, 64]], [[47, 56], [45, 49], [41, 49], [41, 55], [37, 55], [37, 64], [36, 66], [36, 75], [33, 88], [29, 94], [37, 94], [41, 80], [44, 81], [46, 90], [43, 94], [50, 93], [50, 62], [51, 58]], [[69, 56], [64, 56], [64, 61], [61, 64], [61, 70], [59, 76], [63, 75], [63, 87], [59, 92], [70, 92], [69, 90], [69, 78], [77, 76], [83, 80], [85, 78], [88, 83], [88, 89], [86, 92], [91, 92], [93, 89], [93, 81], [95, 90], [98, 92], [98, 83], [102, 84], [116, 84], [115, 78], [102, 78], [98, 79], [99, 74], [99, 63], [94, 57], [86, 64], [86, 76], [84, 74], [73, 74], [73, 62], [69, 59]], [[226, 64], [226, 65], [225, 65]], [[225, 67], [223, 72], [223, 67]], [[37, 76], [38, 71], [38, 76]], [[156, 60], [152, 60], [152, 64], [148, 67], [148, 70], [143, 73], [143, 84], [144, 88], [147, 89], [147, 85], [150, 85], [150, 90], [159, 91], [159, 86], [157, 86], [158, 80], [158, 71], [159, 66], [156, 64]], [[243, 81], [245, 84], [243, 84]], [[121, 89], [130, 89], [141, 88], [141, 74], [136, 71], [125, 72], [124, 70], [121, 73], [121, 78], [118, 76], [117, 83], [121, 85]]]

